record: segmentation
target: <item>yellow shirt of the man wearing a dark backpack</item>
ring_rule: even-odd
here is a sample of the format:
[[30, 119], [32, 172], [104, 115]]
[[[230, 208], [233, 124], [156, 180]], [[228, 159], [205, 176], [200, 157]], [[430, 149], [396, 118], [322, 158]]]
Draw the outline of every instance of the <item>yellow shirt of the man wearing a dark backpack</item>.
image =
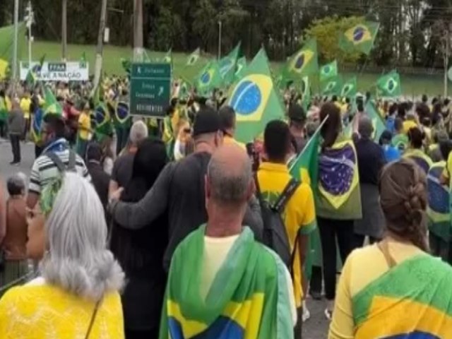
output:
[[[280, 194], [289, 183], [291, 176], [286, 165], [263, 162], [258, 170], [258, 181], [263, 197], [270, 203], [275, 203]], [[314, 196], [311, 187], [300, 184], [295, 194], [290, 198], [283, 212], [283, 220], [289, 236], [290, 246], [293, 250], [297, 233], [306, 235], [316, 228], [316, 212]], [[302, 305], [302, 267], [299, 260], [299, 247], [297, 246], [294, 261], [294, 293], [297, 307]]]

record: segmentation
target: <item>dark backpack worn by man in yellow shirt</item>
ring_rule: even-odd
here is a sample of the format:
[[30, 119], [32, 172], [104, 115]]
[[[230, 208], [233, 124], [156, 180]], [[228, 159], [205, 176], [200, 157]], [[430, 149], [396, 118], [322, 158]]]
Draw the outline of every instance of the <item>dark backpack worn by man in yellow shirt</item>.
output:
[[281, 260], [285, 263], [287, 268], [289, 268], [292, 274], [292, 263], [295, 258], [295, 250], [297, 249], [298, 234], [295, 239], [294, 249], [290, 250], [289, 237], [287, 236], [287, 231], [285, 228], [285, 223], [283, 220], [283, 210], [290, 198], [293, 196], [295, 191], [299, 186], [299, 182], [295, 179], [290, 179], [290, 182], [285, 186], [285, 189], [278, 197], [278, 200], [271, 205], [266, 201], [261, 192], [261, 187], [259, 186], [257, 174], [255, 176], [257, 198], [259, 205], [261, 206], [262, 221], [263, 221], [263, 244], [273, 249]]

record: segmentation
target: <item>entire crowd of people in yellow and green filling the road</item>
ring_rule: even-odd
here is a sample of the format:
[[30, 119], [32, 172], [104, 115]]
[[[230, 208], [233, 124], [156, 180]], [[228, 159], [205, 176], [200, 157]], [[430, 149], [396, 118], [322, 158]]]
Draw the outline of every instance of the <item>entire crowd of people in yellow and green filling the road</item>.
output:
[[[11, 165], [22, 140], [36, 156], [0, 182], [1, 338], [302, 338], [323, 297], [331, 339], [448, 338], [447, 99], [287, 90], [286, 119], [244, 144], [219, 91], [176, 82], [160, 121], [128, 114], [124, 78], [91, 91], [0, 91]], [[316, 131], [316, 182], [298, 182]]]

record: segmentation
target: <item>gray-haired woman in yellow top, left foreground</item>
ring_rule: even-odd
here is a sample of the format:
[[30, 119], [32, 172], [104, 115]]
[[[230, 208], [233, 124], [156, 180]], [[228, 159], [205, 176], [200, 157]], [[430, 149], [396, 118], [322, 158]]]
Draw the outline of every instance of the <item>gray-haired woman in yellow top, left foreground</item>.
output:
[[44, 249], [41, 277], [0, 300], [0, 338], [124, 338], [118, 292], [124, 273], [106, 248], [93, 186], [68, 172], [28, 212], [27, 250], [37, 257]]

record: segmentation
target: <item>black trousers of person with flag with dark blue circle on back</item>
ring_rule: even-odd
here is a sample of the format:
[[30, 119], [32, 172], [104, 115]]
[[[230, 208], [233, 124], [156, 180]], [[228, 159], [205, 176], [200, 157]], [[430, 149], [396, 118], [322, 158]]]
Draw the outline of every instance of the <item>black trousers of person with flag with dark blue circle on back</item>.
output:
[[323, 278], [325, 280], [325, 296], [335, 299], [336, 289], [336, 237], [342, 262], [355, 249], [355, 232], [353, 220], [333, 220], [317, 217], [323, 254]]

